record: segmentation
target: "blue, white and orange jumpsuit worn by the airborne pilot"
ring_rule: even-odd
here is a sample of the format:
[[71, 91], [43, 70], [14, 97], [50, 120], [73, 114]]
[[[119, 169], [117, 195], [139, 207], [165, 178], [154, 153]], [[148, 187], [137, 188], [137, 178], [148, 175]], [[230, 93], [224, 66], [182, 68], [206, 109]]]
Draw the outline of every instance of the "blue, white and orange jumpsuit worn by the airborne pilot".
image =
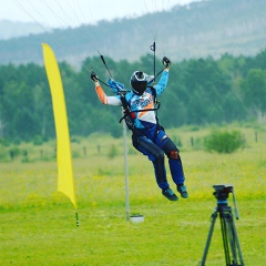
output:
[[[153, 86], [156, 91], [156, 95], [164, 92], [167, 81], [168, 71], [164, 70], [160, 81]], [[99, 82], [95, 82], [95, 91], [103, 104], [122, 105], [121, 96], [106, 96]], [[173, 182], [176, 185], [182, 185], [185, 176], [180, 151], [173, 141], [166, 135], [164, 129], [157, 124], [155, 111], [145, 111], [154, 109], [153, 90], [147, 88], [142, 95], [136, 95], [133, 91], [130, 91], [125, 94], [125, 100], [131, 112], [134, 113], [134, 111], [137, 111], [134, 113], [135, 129], [132, 134], [133, 146], [152, 161], [158, 187], [162, 190], [170, 187], [166, 178], [164, 154], [166, 154], [168, 158]]]

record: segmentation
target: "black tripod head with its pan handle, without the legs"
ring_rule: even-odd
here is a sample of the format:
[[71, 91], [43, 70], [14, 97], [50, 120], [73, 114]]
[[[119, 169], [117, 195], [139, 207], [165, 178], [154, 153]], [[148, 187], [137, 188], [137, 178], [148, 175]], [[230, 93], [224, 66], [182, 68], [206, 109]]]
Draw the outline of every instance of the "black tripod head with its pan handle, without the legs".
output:
[[233, 194], [233, 201], [235, 205], [235, 214], [236, 218], [239, 218], [237, 206], [236, 206], [236, 200], [234, 194], [233, 185], [213, 185], [215, 192], [213, 195], [217, 198], [217, 205], [218, 206], [227, 206], [227, 198], [229, 196], [229, 193]]

